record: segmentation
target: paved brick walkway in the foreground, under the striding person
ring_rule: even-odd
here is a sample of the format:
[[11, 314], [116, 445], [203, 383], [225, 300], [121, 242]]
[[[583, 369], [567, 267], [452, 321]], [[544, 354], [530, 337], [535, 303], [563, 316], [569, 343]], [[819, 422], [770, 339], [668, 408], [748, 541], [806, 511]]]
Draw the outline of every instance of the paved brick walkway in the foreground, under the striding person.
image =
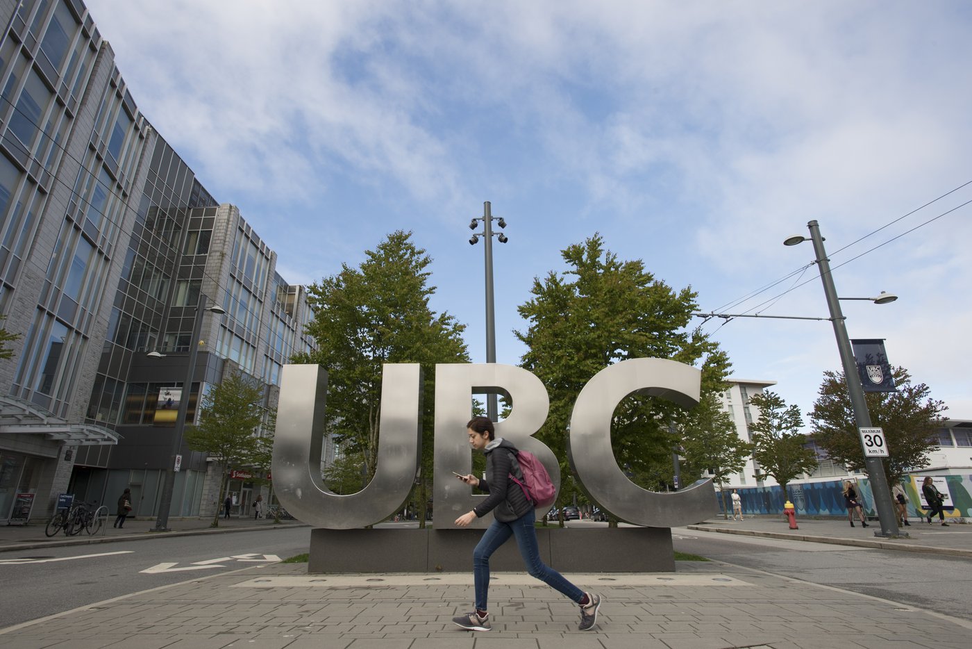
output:
[[[0, 630], [11, 649], [965, 649], [972, 623], [716, 562], [569, 578], [604, 596], [594, 631], [524, 575], [494, 574], [493, 631], [469, 611], [470, 574], [307, 575], [273, 563], [126, 595]], [[63, 643], [61, 645], [60, 643]]]

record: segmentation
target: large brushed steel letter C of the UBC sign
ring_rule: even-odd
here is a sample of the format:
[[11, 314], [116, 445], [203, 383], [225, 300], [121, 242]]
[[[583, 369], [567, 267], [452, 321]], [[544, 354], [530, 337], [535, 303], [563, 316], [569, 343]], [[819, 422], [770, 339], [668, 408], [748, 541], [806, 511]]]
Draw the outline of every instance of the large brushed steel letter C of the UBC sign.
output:
[[611, 416], [625, 397], [661, 397], [688, 408], [699, 403], [701, 379], [701, 371], [683, 363], [633, 358], [596, 374], [577, 396], [568, 449], [573, 473], [587, 492], [621, 521], [677, 527], [698, 523], [714, 513], [711, 480], [698, 481], [674, 493], [642, 489], [621, 471], [610, 446]]

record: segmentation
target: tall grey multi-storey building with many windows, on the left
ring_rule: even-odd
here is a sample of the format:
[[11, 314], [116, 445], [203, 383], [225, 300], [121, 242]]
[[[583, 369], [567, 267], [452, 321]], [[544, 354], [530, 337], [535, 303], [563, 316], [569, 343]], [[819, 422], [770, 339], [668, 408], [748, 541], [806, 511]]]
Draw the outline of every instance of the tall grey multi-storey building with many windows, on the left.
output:
[[[20, 335], [0, 359], [0, 523], [62, 492], [113, 506], [124, 487], [151, 516], [180, 430], [160, 397], [188, 392], [191, 422], [238, 368], [272, 406], [282, 364], [311, 348], [306, 293], [141, 114], [81, 0], [0, 0], [0, 24], [0, 314]], [[182, 454], [172, 515], [205, 513], [219, 486]]]

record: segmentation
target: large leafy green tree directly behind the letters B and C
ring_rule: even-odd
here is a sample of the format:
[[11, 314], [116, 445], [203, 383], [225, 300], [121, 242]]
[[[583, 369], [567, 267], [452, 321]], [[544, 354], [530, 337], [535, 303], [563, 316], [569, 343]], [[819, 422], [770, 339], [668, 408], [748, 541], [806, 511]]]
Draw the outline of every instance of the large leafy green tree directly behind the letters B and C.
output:
[[[717, 343], [688, 327], [698, 310], [690, 288], [671, 288], [641, 260], [619, 260], [605, 250], [600, 234], [569, 246], [562, 256], [568, 270], [534, 280], [532, 298], [518, 307], [528, 328], [515, 334], [527, 345], [522, 367], [543, 381], [550, 396], [550, 413], [537, 437], [561, 458], [566, 476], [573, 403], [595, 374], [629, 358], [668, 358], [701, 365], [705, 392], [722, 389], [729, 361]], [[671, 467], [677, 435], [670, 423], [683, 415], [671, 402], [641, 396], [615, 410], [615, 458], [642, 487], [658, 487], [650, 476]]]

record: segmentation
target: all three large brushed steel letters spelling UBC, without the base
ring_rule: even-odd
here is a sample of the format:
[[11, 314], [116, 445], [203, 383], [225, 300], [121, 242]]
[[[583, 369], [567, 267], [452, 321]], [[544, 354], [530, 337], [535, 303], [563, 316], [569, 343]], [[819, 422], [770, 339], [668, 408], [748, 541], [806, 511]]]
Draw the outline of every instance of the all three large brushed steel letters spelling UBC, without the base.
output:
[[[581, 486], [621, 521], [652, 527], [697, 523], [715, 507], [712, 481], [699, 481], [674, 493], [647, 491], [632, 483], [614, 459], [610, 421], [628, 395], [698, 404], [701, 372], [660, 358], [623, 361], [595, 375], [577, 395], [571, 416], [568, 460]], [[380, 523], [408, 498], [418, 476], [422, 443], [422, 373], [418, 364], [384, 366], [376, 471], [357, 493], [333, 493], [321, 480], [321, 449], [327, 406], [328, 373], [317, 365], [286, 365], [280, 386], [273, 446], [273, 483], [281, 504], [304, 523], [352, 529]], [[560, 488], [560, 466], [553, 451], [533, 435], [546, 420], [549, 397], [540, 380], [522, 368], [490, 364], [435, 366], [434, 512], [436, 529], [454, 528], [457, 516], [485, 498], [452, 479], [466, 474], [471, 457], [466, 436], [472, 394], [503, 394], [510, 414], [497, 422], [496, 434], [538, 456]], [[473, 525], [485, 526], [489, 517]]]

